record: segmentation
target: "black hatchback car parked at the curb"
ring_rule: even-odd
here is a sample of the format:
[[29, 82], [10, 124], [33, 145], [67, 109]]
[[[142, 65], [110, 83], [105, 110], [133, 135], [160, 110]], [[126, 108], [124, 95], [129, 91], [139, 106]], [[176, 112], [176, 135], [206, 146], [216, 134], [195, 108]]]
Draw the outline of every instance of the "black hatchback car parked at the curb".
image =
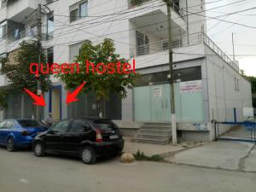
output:
[[97, 157], [117, 156], [124, 148], [124, 139], [111, 119], [65, 119], [38, 134], [32, 142], [34, 154], [69, 154], [80, 156], [85, 164]]

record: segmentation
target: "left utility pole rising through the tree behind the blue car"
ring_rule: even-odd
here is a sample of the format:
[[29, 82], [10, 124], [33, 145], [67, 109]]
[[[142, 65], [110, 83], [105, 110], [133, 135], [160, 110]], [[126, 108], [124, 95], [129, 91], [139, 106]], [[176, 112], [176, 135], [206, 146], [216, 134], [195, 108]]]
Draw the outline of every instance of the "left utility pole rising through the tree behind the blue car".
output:
[[[41, 40], [42, 40], [42, 6], [40, 3], [38, 3], [38, 65], [41, 64], [41, 55], [42, 55], [42, 45], [41, 45]], [[42, 90], [41, 90], [41, 82], [40, 82], [40, 74], [38, 74], [37, 77], [37, 95], [41, 96], [42, 95]], [[37, 105], [37, 119], [40, 119], [40, 108]]]

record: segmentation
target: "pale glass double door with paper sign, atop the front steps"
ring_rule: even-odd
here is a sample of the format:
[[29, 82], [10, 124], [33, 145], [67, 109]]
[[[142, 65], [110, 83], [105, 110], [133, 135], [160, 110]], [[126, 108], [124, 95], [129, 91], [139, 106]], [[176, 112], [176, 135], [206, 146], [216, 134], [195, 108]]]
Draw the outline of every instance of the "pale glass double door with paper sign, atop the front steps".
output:
[[170, 121], [170, 86], [168, 84], [159, 84], [150, 86], [151, 113], [152, 122]]

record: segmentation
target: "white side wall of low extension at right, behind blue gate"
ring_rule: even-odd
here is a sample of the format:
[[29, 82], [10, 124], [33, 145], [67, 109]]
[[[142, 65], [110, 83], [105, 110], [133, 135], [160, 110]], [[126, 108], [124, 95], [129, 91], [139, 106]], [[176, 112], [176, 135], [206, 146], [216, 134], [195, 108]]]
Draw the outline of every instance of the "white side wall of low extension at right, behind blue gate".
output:
[[[228, 63], [206, 47], [206, 68], [209, 95], [210, 120], [237, 121], [243, 120], [243, 108], [252, 108], [251, 84], [241, 77]], [[235, 88], [235, 77], [239, 81], [239, 90]], [[228, 127], [221, 126], [219, 132], [227, 131]]]

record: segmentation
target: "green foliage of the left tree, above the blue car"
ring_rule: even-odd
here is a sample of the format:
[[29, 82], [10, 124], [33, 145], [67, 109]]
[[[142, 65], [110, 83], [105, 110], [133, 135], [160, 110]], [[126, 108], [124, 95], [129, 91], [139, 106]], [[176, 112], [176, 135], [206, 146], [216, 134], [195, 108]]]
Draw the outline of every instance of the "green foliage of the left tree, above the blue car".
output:
[[[36, 41], [23, 41], [20, 43], [20, 49], [15, 55], [15, 63], [10, 63], [9, 59], [2, 60], [1, 72], [9, 78], [9, 86], [15, 90], [37, 90], [37, 79], [35, 75], [30, 73], [30, 64], [38, 62], [38, 43]], [[44, 54], [41, 55], [41, 61], [45, 66]], [[49, 74], [40, 74], [38, 78], [41, 82], [43, 91], [49, 90], [51, 80]]]

